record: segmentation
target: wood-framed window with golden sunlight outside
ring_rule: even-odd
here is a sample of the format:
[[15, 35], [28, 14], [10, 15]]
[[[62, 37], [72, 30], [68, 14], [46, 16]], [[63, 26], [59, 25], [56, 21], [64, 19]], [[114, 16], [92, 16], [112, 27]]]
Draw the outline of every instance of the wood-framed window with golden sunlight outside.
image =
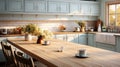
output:
[[120, 26], [120, 3], [109, 3], [107, 21], [109, 26]]

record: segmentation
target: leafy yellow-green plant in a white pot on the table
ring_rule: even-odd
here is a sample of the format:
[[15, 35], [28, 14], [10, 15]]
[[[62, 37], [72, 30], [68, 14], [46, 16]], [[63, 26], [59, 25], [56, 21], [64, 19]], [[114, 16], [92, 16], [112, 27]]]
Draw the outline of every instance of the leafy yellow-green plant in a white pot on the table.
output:
[[25, 25], [23, 28], [23, 31], [25, 32], [25, 40], [26, 41], [31, 41], [32, 40], [32, 35], [36, 35], [39, 32], [39, 27], [35, 24], [28, 24]]

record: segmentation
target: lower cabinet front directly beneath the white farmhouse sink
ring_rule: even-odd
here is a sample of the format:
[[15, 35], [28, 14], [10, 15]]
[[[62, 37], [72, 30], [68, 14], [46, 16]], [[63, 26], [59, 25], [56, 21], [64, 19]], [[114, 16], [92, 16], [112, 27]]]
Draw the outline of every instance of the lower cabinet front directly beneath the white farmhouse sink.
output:
[[106, 50], [116, 51], [116, 45], [112, 45], [112, 44], [96, 42], [96, 47]]

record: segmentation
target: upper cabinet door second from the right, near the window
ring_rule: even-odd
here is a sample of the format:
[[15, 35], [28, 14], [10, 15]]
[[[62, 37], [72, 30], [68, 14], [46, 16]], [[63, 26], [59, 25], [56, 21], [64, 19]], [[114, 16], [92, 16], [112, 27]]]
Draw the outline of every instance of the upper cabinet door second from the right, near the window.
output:
[[81, 14], [90, 15], [90, 4], [89, 3], [81, 4]]

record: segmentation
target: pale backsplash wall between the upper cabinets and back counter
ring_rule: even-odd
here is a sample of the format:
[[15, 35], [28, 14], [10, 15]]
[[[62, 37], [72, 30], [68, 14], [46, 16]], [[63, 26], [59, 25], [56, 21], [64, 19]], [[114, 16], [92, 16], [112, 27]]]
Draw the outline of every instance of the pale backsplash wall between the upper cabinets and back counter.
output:
[[[74, 31], [78, 25], [76, 20], [95, 21], [97, 17], [90, 16], [67, 16], [67, 15], [37, 15], [37, 14], [1, 14], [0, 27], [18, 27], [29, 23], [37, 24], [42, 29], [60, 31], [59, 26], [65, 25], [67, 31]], [[90, 22], [93, 26], [94, 22]]]

